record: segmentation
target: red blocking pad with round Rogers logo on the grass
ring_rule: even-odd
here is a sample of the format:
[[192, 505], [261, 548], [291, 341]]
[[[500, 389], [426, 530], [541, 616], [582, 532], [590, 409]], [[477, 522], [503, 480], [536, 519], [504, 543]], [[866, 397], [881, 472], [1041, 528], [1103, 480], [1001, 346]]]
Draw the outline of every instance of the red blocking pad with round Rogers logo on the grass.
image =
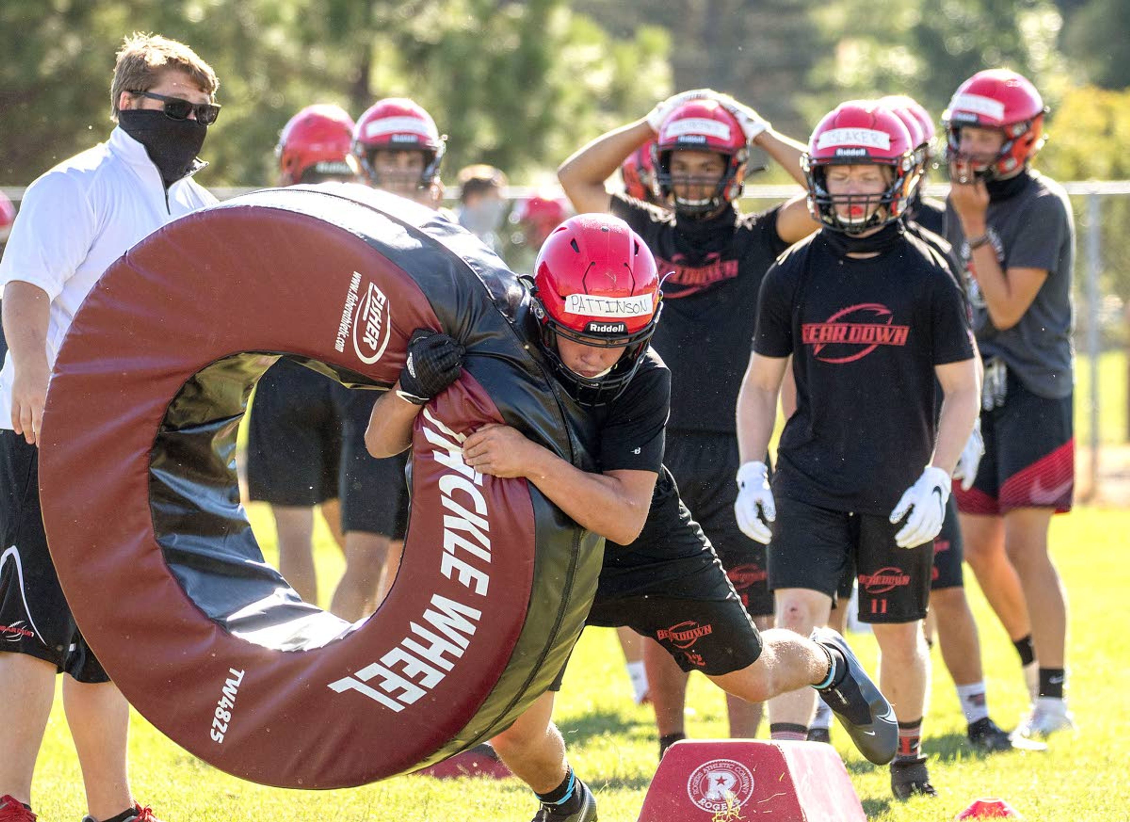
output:
[[684, 741], [667, 749], [638, 822], [866, 822], [840, 754], [819, 742]]

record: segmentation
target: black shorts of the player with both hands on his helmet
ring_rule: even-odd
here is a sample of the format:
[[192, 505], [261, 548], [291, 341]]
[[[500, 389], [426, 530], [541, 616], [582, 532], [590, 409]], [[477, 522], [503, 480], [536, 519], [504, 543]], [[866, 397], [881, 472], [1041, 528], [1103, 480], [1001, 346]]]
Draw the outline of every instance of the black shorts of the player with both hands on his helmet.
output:
[[714, 545], [714, 551], [753, 616], [773, 614], [765, 545], [738, 527], [738, 440], [732, 434], [667, 431], [663, 463], [679, 483], [679, 496]]

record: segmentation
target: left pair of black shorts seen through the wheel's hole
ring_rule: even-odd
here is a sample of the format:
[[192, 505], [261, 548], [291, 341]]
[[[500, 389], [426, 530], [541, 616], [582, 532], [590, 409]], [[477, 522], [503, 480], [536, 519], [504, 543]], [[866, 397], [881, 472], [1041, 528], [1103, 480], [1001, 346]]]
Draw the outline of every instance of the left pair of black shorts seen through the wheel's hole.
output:
[[287, 358], [259, 381], [247, 425], [247, 491], [271, 505], [337, 499], [347, 390]]

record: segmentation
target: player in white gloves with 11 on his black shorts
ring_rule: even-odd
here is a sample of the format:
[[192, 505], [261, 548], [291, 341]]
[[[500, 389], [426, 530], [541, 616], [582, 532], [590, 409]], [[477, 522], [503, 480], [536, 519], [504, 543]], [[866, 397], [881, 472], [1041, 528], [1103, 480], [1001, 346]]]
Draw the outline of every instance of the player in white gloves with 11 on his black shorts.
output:
[[[768, 545], [779, 627], [807, 636], [825, 624], [843, 572], [855, 568], [859, 618], [875, 630], [898, 718], [898, 798], [936, 794], [920, 747], [929, 680], [921, 620], [930, 540], [980, 393], [957, 283], [901, 220], [916, 173], [912, 141], [893, 112], [864, 100], [841, 104], [814, 130], [803, 167], [824, 228], [765, 276], [737, 412], [748, 472], [739, 478], [756, 486], [791, 361], [797, 409], [777, 448]], [[811, 716], [803, 691], [770, 702], [777, 738], [803, 740]]]

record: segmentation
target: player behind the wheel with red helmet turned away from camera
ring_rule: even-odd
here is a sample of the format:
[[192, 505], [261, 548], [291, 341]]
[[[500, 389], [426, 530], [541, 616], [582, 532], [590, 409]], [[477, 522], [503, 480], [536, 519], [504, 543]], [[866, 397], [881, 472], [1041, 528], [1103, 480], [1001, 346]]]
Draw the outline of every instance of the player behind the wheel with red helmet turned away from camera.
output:
[[[336, 105], [306, 106], [290, 117], [275, 149], [279, 185], [355, 181], [353, 130], [353, 117]], [[279, 571], [310, 603], [318, 602], [315, 506], [345, 550], [338, 484], [340, 404], [347, 394], [332, 379], [280, 357], [260, 378], [251, 406], [249, 496], [270, 505]]]

